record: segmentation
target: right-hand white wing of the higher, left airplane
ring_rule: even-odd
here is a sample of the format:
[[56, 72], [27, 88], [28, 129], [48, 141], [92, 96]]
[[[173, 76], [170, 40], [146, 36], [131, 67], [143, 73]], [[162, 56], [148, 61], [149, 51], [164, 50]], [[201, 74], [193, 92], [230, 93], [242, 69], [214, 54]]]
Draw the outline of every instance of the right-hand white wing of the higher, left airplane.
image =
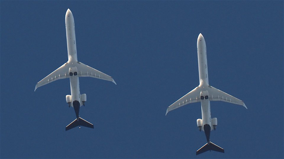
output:
[[109, 75], [104, 74], [103, 72], [100, 72], [88, 65], [85, 65], [82, 62], [77, 62], [76, 66], [77, 66], [77, 71], [78, 71], [77, 73], [79, 77], [93, 77], [93, 78], [98, 78], [101, 80], [111, 81], [111, 82], [114, 82], [114, 84], [116, 84], [113, 78], [110, 77]]

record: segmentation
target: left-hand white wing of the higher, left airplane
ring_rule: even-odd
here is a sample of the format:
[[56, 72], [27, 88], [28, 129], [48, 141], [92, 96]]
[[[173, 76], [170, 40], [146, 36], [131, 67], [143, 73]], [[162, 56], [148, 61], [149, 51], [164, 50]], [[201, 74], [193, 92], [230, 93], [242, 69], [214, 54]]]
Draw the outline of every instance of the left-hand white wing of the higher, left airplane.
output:
[[60, 66], [58, 69], [53, 71], [51, 74], [43, 78], [41, 81], [39, 81], [35, 85], [35, 90], [38, 87], [41, 87], [43, 85], [49, 84], [50, 82], [59, 80], [59, 79], [64, 79], [64, 78], [69, 78], [69, 65], [68, 62]]

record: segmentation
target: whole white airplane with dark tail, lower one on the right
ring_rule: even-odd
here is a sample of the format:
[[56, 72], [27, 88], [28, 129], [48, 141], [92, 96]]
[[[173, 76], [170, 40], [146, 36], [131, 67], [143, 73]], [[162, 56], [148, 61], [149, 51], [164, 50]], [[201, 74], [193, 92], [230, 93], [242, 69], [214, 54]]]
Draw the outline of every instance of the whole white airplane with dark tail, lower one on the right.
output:
[[196, 151], [196, 155], [204, 153], [208, 150], [218, 151], [224, 153], [224, 149], [210, 142], [210, 131], [215, 130], [217, 127], [217, 118], [211, 118], [210, 101], [223, 101], [233, 104], [243, 105], [248, 109], [245, 103], [238, 98], [235, 98], [217, 88], [209, 85], [208, 82], [208, 65], [207, 53], [204, 37], [200, 33], [197, 38], [197, 57], [198, 57], [198, 70], [199, 70], [199, 86], [194, 88], [185, 96], [181, 97], [178, 101], [174, 102], [167, 108], [166, 115], [169, 111], [184, 106], [189, 103], [201, 102], [202, 119], [197, 119], [197, 127], [199, 131], [204, 131], [207, 143]]

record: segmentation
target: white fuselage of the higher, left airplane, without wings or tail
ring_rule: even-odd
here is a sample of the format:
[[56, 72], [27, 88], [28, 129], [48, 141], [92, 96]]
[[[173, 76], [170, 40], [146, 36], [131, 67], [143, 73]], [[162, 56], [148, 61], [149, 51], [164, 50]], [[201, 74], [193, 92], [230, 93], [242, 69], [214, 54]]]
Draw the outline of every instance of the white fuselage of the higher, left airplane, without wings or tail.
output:
[[70, 89], [71, 89], [71, 106], [73, 107], [73, 101], [77, 100], [82, 106], [82, 101], [80, 100], [80, 88], [79, 88], [79, 77], [74, 75], [77, 72], [77, 67], [73, 67], [73, 63], [77, 63], [77, 47], [76, 47], [76, 36], [75, 36], [75, 23], [74, 17], [70, 9], [66, 11], [65, 14], [65, 27], [66, 27], [66, 39], [67, 39], [67, 51], [68, 51], [68, 63], [71, 64], [69, 71], [72, 72], [70, 76]]

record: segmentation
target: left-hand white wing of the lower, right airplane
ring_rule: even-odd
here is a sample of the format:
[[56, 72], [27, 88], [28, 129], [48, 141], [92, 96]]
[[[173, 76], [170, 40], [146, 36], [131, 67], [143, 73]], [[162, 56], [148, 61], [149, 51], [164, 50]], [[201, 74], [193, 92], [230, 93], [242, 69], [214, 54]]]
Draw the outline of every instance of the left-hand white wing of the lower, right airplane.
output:
[[194, 102], [200, 102], [200, 90], [199, 90], [199, 86], [194, 88], [192, 91], [190, 91], [188, 94], [186, 94], [185, 96], [181, 97], [179, 100], [177, 100], [176, 102], [174, 102], [172, 105], [170, 105], [167, 108], [167, 112], [166, 115], [169, 111], [177, 109], [181, 106], [184, 106], [186, 104], [189, 103], [194, 103]]

